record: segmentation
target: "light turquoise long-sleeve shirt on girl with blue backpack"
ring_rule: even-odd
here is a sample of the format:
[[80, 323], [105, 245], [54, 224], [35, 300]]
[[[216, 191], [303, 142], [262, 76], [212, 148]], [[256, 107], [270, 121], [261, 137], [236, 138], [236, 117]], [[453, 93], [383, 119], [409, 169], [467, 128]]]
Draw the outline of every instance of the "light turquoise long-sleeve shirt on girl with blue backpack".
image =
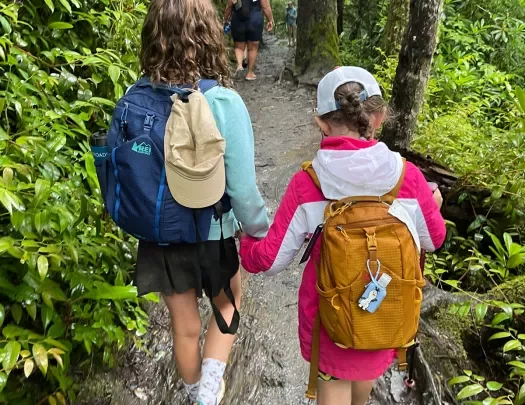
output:
[[[226, 141], [226, 192], [233, 211], [223, 216], [224, 237], [235, 234], [239, 221], [246, 234], [263, 238], [268, 232], [269, 220], [255, 181], [253, 129], [248, 110], [235, 91], [224, 87], [208, 90], [205, 97]], [[220, 224], [212, 218], [208, 239], [219, 240], [220, 236]]]

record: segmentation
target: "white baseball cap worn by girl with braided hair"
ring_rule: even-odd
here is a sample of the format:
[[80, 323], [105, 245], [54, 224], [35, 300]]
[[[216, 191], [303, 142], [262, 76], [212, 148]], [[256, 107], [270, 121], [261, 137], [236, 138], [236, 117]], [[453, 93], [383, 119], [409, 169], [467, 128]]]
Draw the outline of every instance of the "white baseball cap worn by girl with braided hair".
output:
[[335, 91], [346, 83], [359, 83], [363, 86], [361, 101], [372, 96], [381, 96], [381, 89], [371, 73], [356, 66], [342, 66], [332, 70], [321, 79], [317, 86], [317, 113], [324, 115], [339, 109]]

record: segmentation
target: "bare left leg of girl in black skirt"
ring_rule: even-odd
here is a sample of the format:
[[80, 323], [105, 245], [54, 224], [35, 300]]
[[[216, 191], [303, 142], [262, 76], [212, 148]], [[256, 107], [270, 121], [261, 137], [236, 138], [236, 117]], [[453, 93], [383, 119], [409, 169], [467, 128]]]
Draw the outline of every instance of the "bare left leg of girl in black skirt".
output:
[[171, 317], [177, 369], [186, 384], [195, 384], [200, 379], [202, 362], [199, 347], [201, 320], [196, 292], [192, 289], [163, 298]]

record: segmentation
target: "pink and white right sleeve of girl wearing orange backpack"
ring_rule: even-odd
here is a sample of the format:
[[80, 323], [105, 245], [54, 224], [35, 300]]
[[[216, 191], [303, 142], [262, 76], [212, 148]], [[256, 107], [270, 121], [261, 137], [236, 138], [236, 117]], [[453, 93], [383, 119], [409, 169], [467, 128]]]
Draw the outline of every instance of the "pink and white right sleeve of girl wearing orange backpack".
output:
[[414, 166], [417, 202], [422, 215], [417, 215], [417, 232], [421, 242], [421, 248], [433, 252], [439, 249], [447, 234], [445, 220], [443, 219], [437, 203], [434, 201], [423, 173]]

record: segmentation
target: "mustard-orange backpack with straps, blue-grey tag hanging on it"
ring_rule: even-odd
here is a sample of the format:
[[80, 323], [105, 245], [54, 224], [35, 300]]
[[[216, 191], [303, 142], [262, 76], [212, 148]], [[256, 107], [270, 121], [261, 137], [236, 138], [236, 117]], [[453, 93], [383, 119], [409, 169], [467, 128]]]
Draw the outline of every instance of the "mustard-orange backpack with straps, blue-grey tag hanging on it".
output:
[[[321, 188], [311, 162], [302, 167]], [[398, 349], [399, 367], [407, 366], [406, 350], [415, 341], [425, 281], [412, 234], [388, 212], [403, 184], [405, 168], [403, 161], [401, 177], [386, 195], [331, 201], [325, 209], [321, 257], [316, 263], [319, 311], [313, 331], [309, 398], [315, 398], [316, 392], [321, 324], [342, 348]], [[382, 274], [391, 281], [383, 301], [371, 313], [359, 301], [371, 276], [377, 280]]]

